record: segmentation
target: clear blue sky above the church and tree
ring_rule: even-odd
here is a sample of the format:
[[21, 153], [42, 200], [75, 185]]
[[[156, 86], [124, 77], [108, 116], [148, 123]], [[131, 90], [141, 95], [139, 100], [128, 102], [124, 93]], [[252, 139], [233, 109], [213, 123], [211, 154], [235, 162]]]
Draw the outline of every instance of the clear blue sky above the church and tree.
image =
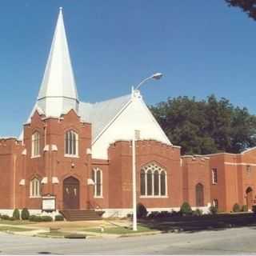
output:
[[162, 72], [142, 87], [148, 104], [215, 94], [256, 114], [256, 22], [224, 0], [2, 0], [1, 136], [17, 136], [34, 106], [59, 6], [82, 101]]

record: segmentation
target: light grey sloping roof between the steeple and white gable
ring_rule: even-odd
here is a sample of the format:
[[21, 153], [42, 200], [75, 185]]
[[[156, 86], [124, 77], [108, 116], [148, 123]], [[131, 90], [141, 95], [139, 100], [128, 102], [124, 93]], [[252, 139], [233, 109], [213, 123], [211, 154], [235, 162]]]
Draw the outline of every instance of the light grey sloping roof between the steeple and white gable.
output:
[[78, 114], [81, 116], [82, 121], [92, 124], [93, 141], [130, 100], [131, 95], [128, 94], [104, 102], [80, 102]]

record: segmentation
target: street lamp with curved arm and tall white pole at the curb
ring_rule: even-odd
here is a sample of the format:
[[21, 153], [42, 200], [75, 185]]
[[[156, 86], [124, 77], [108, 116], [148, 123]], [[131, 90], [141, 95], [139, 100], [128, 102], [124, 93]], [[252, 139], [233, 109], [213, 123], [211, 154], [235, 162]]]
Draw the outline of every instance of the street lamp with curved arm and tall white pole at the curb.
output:
[[[143, 83], [150, 79], [158, 80], [162, 78], [161, 73], [156, 73], [148, 78], [145, 78], [135, 87], [138, 90]], [[133, 140], [132, 140], [132, 168], [133, 168], [133, 230], [137, 231], [137, 198], [136, 198], [136, 140], [139, 139], [139, 130], [134, 130]]]

